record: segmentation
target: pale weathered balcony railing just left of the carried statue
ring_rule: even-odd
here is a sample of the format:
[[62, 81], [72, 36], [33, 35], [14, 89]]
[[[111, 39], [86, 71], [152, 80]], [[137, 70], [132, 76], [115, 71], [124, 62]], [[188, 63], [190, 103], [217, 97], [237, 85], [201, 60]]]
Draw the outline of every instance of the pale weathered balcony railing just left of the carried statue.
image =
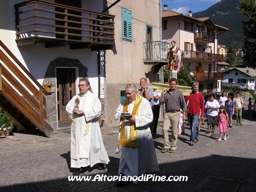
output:
[[170, 44], [164, 41], [150, 41], [144, 43], [144, 61], [168, 62], [167, 49]]

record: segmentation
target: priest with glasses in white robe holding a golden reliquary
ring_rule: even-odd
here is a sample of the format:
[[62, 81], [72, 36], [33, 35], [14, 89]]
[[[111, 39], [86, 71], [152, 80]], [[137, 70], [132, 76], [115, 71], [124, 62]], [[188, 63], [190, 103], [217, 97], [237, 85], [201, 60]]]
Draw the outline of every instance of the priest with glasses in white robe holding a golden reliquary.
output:
[[102, 140], [99, 127], [101, 102], [89, 91], [87, 79], [79, 81], [80, 93], [74, 96], [66, 106], [71, 124], [71, 167], [79, 168], [73, 175], [85, 172], [85, 167], [99, 163], [99, 170], [108, 164], [109, 158]]

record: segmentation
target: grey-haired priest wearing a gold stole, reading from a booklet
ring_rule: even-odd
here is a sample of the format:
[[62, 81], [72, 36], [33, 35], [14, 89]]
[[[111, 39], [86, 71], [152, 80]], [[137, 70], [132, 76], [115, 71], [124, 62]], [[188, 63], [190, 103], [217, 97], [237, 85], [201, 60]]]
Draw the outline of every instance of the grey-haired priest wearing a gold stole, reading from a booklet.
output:
[[[138, 176], [148, 170], [159, 171], [157, 155], [149, 128], [153, 120], [151, 106], [147, 99], [137, 94], [135, 84], [125, 87], [127, 99], [121, 102], [116, 110], [115, 120], [120, 123], [119, 149], [122, 151], [118, 174]], [[121, 113], [131, 113], [126, 118]], [[137, 181], [133, 181], [137, 183]], [[129, 184], [129, 181], [119, 181], [116, 186]]]

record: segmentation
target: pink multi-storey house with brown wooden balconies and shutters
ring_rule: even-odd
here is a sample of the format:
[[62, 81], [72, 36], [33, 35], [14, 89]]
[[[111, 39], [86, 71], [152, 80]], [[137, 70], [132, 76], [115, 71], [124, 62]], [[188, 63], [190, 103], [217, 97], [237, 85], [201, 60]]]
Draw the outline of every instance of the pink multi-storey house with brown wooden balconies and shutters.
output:
[[167, 43], [176, 41], [182, 57], [193, 69], [200, 92], [221, 90], [221, 66], [229, 64], [223, 62], [224, 55], [218, 54], [218, 32], [227, 30], [209, 17], [192, 17], [192, 12], [186, 16], [168, 9], [162, 11], [162, 39]]

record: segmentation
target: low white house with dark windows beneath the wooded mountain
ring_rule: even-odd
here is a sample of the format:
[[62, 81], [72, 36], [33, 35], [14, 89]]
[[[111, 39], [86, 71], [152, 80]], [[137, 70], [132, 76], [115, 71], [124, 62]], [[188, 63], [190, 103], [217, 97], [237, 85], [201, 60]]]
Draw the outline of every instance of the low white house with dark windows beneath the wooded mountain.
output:
[[223, 73], [222, 85], [255, 90], [256, 70], [252, 68], [233, 68]]

